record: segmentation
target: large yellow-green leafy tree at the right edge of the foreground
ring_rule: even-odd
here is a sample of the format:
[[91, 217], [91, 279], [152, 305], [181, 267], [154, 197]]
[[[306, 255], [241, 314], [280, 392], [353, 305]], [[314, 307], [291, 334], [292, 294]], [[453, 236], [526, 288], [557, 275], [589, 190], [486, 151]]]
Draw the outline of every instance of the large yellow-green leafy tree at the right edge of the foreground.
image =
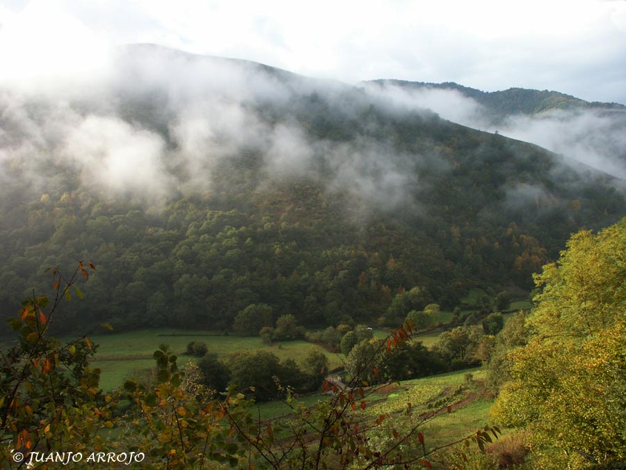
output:
[[626, 219], [570, 238], [541, 288], [526, 345], [508, 352], [511, 380], [493, 408], [531, 430], [545, 469], [626, 460]]

